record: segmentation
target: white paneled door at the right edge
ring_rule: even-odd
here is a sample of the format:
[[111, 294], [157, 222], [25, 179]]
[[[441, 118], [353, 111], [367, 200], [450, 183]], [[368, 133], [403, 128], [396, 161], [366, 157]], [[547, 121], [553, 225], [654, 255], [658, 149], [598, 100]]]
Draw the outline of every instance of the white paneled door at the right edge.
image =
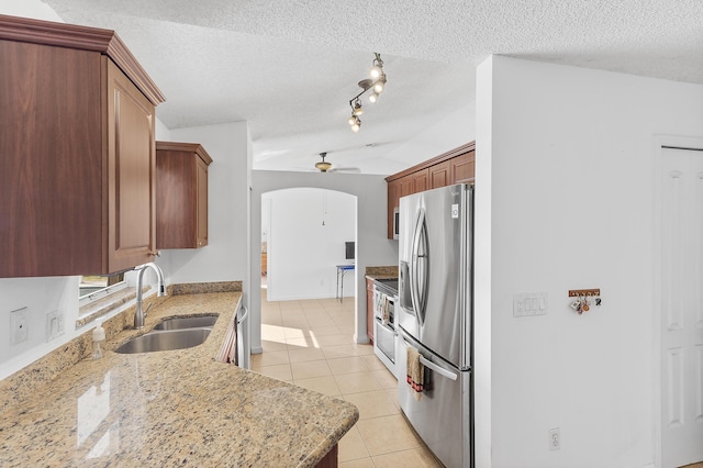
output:
[[703, 151], [662, 148], [661, 464], [703, 461]]

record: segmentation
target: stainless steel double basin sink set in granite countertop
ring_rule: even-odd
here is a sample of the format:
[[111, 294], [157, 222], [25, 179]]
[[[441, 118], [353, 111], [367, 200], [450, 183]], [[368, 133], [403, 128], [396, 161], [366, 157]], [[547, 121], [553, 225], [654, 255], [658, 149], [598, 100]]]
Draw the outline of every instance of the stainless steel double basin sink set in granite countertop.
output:
[[149, 333], [124, 343], [115, 349], [115, 353], [134, 354], [191, 348], [208, 338], [216, 320], [217, 315], [167, 319]]

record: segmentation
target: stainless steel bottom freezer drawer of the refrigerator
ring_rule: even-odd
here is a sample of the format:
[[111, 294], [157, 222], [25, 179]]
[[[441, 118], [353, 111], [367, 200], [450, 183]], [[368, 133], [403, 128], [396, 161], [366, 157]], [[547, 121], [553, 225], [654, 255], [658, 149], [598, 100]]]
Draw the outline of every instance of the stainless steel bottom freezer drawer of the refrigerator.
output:
[[[445, 466], [471, 467], [471, 371], [448, 366], [402, 333], [399, 344], [397, 364], [403, 376], [398, 380], [398, 400], [403, 414]], [[443, 369], [425, 366], [425, 389], [419, 400], [405, 381], [408, 346], [415, 347], [432, 367]]]

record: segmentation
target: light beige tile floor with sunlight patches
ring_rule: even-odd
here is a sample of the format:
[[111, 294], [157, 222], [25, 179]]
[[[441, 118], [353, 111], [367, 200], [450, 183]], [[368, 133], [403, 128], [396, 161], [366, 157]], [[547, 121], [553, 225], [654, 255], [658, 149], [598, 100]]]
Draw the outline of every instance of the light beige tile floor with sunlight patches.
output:
[[395, 378], [371, 345], [354, 343], [354, 301], [268, 302], [261, 290], [261, 345], [252, 369], [347, 400], [359, 422], [339, 442], [339, 467], [440, 467], [400, 413]]

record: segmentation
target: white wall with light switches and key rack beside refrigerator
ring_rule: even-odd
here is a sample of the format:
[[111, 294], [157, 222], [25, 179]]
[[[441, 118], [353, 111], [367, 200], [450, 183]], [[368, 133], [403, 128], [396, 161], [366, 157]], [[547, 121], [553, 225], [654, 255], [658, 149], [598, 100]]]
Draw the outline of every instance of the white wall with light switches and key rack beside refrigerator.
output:
[[[703, 136], [703, 87], [499, 56], [477, 82], [477, 465], [651, 466], [654, 141]], [[528, 291], [547, 315], [513, 317]]]

